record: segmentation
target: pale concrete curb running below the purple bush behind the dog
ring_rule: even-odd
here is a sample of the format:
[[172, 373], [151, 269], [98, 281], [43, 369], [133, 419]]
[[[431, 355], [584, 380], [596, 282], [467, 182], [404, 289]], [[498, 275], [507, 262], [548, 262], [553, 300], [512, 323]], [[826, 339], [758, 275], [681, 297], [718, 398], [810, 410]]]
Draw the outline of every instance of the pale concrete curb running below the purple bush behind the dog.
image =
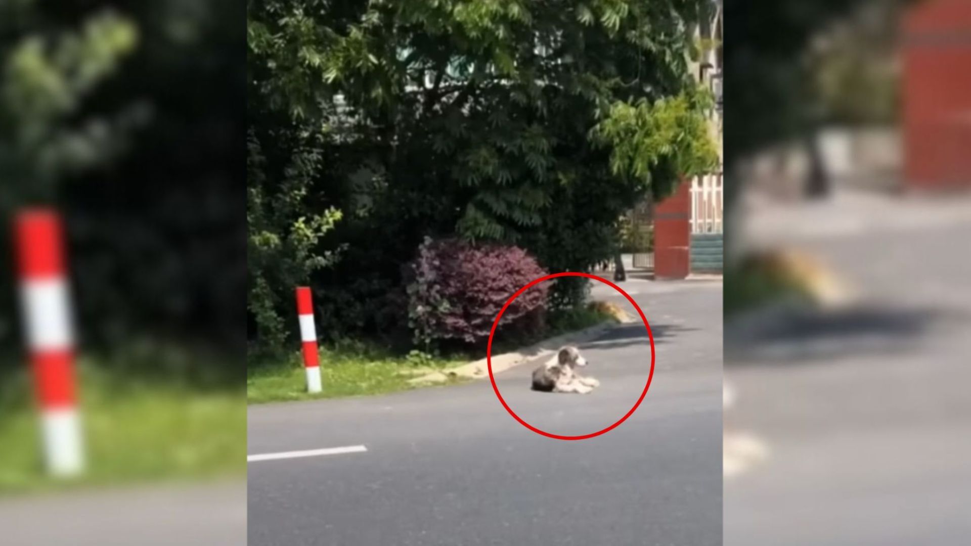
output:
[[[619, 321], [619, 324], [631, 322], [629, 318], [626, 319], [628, 320]], [[564, 345], [577, 345], [590, 341], [614, 324], [618, 323], [604, 322], [595, 324], [579, 331], [564, 333], [545, 339], [523, 349], [519, 349], [519, 351], [513, 351], [503, 355], [493, 355], [492, 373], [506, 371], [534, 358], [550, 357]], [[486, 377], [488, 377], [488, 360], [487, 358], [480, 358], [462, 366], [436, 371], [415, 379], [410, 379], [408, 382], [413, 385], [434, 385], [454, 378], [484, 379]]]

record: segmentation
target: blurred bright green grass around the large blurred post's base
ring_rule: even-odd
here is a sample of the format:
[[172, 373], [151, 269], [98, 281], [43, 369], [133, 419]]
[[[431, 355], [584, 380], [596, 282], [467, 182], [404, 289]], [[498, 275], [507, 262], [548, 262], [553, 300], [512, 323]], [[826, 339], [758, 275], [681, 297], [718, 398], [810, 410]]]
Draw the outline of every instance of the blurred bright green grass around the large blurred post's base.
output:
[[0, 406], [0, 495], [163, 479], [245, 476], [246, 400], [241, 389], [193, 390], [157, 380], [120, 383], [79, 365], [87, 468], [51, 479], [25, 373], [5, 377]]

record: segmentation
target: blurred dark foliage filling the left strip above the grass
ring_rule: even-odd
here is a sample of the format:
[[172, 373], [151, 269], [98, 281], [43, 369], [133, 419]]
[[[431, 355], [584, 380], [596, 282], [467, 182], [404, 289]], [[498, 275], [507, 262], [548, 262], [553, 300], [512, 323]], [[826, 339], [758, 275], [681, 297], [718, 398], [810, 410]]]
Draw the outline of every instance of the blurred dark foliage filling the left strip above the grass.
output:
[[[0, 2], [0, 241], [18, 207], [60, 210], [87, 348], [239, 347], [246, 104], [232, 4]], [[0, 285], [13, 273], [0, 268]], [[0, 350], [19, 346], [15, 295], [0, 290]], [[238, 377], [231, 362], [207, 366]]]

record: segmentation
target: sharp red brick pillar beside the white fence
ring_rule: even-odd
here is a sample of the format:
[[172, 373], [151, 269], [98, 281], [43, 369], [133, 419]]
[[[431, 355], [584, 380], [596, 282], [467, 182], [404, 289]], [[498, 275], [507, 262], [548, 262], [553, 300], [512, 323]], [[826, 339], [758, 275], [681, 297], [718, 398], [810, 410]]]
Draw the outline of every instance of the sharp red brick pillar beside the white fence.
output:
[[685, 279], [691, 272], [691, 185], [654, 206], [654, 278]]

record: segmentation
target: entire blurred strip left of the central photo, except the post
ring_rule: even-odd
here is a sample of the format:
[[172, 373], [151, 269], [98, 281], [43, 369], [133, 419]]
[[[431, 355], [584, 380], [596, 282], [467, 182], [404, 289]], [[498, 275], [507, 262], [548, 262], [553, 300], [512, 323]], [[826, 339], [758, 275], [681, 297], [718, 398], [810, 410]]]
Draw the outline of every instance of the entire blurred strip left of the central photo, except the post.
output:
[[[232, 0], [0, 2], [5, 544], [245, 540], [245, 41]], [[24, 347], [28, 207], [64, 221], [87, 460], [70, 480], [42, 463]]]

